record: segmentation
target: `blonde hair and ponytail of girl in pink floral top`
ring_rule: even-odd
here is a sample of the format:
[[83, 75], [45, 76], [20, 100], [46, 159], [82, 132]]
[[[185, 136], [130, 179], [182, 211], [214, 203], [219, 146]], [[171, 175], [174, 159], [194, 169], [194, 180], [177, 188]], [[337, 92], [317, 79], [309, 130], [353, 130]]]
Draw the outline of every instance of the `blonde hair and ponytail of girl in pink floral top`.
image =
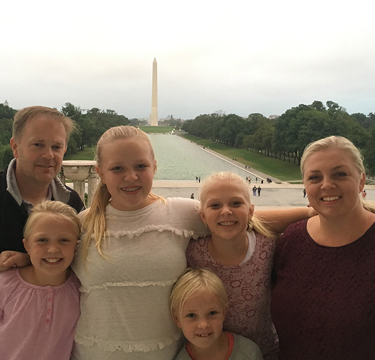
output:
[[[203, 180], [203, 185], [200, 189], [200, 194], [199, 194], [199, 201], [200, 201], [200, 207], [198, 209], [199, 212], [203, 211], [204, 203], [207, 201], [207, 192], [209, 191], [211, 186], [217, 183], [220, 183], [222, 181], [230, 181], [233, 184], [238, 185], [239, 188], [242, 190], [245, 200], [248, 202], [249, 206], [251, 206], [252, 203], [250, 199], [250, 191], [249, 191], [249, 186], [247, 182], [237, 174], [231, 173], [230, 171], [222, 171], [222, 172], [214, 173]], [[271, 230], [269, 230], [266, 224], [267, 222], [265, 222], [264, 220], [261, 220], [256, 215], [252, 215], [251, 219], [249, 219], [247, 222], [247, 230], [248, 231], [255, 230], [261, 235], [274, 239], [276, 237], [276, 234], [272, 232]]]

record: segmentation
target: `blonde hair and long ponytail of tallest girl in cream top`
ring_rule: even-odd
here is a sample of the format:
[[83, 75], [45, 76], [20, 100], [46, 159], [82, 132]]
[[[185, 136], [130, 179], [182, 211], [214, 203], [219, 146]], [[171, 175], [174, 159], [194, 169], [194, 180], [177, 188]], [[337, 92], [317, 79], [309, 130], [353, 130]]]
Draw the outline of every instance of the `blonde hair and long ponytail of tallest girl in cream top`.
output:
[[[113, 128], [108, 129], [105, 131], [103, 135], [101, 135], [100, 139], [97, 142], [96, 147], [96, 165], [98, 167], [102, 166], [102, 151], [103, 146], [108, 143], [112, 143], [116, 140], [122, 139], [139, 139], [145, 141], [149, 145], [149, 149], [151, 151], [152, 159], [154, 159], [154, 153], [152, 149], [152, 145], [147, 137], [147, 135], [132, 126], [115, 126]], [[124, 154], [126, 156], [126, 154]], [[156, 169], [155, 169], [156, 171]], [[149, 193], [148, 196], [151, 199], [162, 199], [160, 196], [157, 196], [153, 193]], [[87, 258], [88, 247], [91, 241], [91, 238], [94, 238], [95, 246], [97, 248], [98, 253], [106, 258], [104, 255], [104, 240], [106, 235], [106, 227], [105, 227], [105, 208], [111, 198], [111, 195], [106, 187], [101, 181], [99, 181], [95, 194], [92, 199], [92, 204], [90, 208], [87, 210], [87, 214], [83, 220], [83, 229], [84, 229], [84, 237], [82, 243], [82, 260], [85, 261]]]

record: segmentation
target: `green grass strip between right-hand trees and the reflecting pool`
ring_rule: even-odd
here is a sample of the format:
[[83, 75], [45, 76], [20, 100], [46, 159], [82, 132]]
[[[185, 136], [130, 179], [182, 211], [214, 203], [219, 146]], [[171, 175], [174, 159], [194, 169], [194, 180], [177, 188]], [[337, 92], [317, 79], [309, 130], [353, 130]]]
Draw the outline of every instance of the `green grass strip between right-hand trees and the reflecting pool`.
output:
[[287, 180], [301, 180], [301, 175], [299, 172], [299, 166], [294, 165], [292, 162], [278, 160], [271, 158], [270, 156], [265, 156], [262, 154], [257, 154], [251, 150], [232, 148], [212, 140], [202, 139], [193, 135], [180, 135], [187, 140], [191, 140], [194, 143], [202, 144], [205, 147], [209, 147], [210, 150], [216, 151], [222, 155], [227, 156], [231, 159], [236, 159], [244, 165], [248, 165], [254, 169], [257, 169], [265, 174], [274, 176], [277, 179], [287, 181]]

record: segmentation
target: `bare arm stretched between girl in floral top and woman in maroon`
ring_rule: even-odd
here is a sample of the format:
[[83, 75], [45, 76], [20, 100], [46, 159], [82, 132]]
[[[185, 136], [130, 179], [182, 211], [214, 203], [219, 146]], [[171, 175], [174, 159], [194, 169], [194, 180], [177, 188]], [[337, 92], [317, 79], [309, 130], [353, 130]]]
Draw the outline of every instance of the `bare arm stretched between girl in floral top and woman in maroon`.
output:
[[283, 232], [291, 223], [317, 215], [312, 207], [295, 207], [279, 210], [257, 210], [254, 215], [276, 233]]

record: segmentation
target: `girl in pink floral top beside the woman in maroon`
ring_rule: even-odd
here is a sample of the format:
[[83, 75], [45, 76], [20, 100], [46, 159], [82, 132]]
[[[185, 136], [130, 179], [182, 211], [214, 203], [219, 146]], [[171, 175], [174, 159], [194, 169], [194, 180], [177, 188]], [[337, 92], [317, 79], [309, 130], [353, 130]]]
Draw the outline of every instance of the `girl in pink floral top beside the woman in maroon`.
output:
[[224, 330], [253, 340], [265, 360], [275, 360], [278, 341], [269, 310], [275, 234], [253, 210], [241, 177], [230, 172], [208, 177], [200, 192], [199, 214], [211, 235], [190, 240], [186, 259], [188, 266], [208, 268], [224, 283]]

